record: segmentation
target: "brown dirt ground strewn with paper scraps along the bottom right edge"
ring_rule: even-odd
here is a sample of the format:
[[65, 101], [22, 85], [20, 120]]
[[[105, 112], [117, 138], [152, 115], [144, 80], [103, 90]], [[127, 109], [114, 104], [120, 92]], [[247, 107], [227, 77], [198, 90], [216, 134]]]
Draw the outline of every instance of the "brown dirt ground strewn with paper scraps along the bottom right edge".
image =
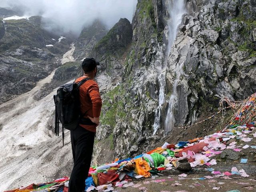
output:
[[[240, 176], [222, 176], [205, 178], [212, 174], [189, 174], [181, 177], [172, 172], [165, 172], [157, 178], [145, 178], [133, 181], [134, 186], [116, 188], [117, 192], [255, 192], [256, 178], [243, 178]], [[238, 190], [238, 191], [236, 191]]]

